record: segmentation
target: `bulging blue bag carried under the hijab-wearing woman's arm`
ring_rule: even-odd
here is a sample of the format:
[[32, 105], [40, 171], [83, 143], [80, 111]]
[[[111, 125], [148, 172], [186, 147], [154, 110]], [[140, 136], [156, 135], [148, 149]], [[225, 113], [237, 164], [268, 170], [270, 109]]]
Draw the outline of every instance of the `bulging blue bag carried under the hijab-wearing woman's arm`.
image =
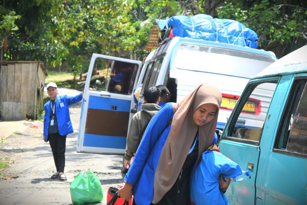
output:
[[226, 178], [235, 177], [242, 174], [242, 169], [220, 152], [204, 152], [190, 183], [190, 196], [196, 205], [228, 204], [219, 189], [220, 174]]

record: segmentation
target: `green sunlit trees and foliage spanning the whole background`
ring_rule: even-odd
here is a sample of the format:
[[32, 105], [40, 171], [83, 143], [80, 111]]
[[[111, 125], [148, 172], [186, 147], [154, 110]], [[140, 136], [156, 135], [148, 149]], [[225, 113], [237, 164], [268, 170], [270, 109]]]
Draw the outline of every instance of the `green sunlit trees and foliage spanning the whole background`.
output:
[[212, 2], [215, 17], [255, 30], [260, 49], [279, 45], [282, 56], [307, 42], [304, 0], [6, 0], [0, 48], [4, 60], [64, 63], [76, 78], [87, 71], [92, 53], [142, 59], [155, 19], [204, 13]]

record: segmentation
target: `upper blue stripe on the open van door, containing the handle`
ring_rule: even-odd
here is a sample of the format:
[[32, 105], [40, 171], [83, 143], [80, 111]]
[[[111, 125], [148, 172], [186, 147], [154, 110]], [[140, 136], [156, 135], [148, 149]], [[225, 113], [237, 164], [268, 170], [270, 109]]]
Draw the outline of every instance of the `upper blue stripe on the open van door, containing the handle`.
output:
[[[111, 106], [116, 106], [116, 110], [111, 110]], [[90, 96], [88, 100], [88, 108], [130, 112], [131, 101], [121, 100], [107, 97]]]

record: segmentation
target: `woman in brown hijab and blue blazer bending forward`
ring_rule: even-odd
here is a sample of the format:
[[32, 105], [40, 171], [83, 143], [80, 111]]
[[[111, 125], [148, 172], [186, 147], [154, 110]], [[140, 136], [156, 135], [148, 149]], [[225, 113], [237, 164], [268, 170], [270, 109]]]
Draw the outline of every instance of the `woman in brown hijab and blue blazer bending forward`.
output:
[[[166, 103], [150, 120], [118, 195], [138, 205], [190, 204], [190, 176], [202, 153], [216, 143], [222, 95], [200, 84], [182, 101]], [[219, 179], [221, 191], [229, 182]]]

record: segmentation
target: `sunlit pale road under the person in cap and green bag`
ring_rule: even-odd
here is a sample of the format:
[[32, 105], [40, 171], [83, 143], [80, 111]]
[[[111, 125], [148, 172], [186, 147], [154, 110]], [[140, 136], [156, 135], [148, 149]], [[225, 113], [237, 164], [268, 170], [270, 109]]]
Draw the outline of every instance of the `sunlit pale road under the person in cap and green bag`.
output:
[[[60, 95], [76, 95], [77, 90], [58, 89]], [[43, 141], [43, 123], [27, 122], [29, 128], [15, 132], [6, 138], [6, 149], [0, 150], [0, 157], [10, 162], [0, 179], [0, 204], [72, 204], [70, 183], [74, 174], [90, 168], [103, 188], [103, 202], [106, 204], [110, 186], [122, 183], [122, 156], [85, 154], [76, 152], [81, 102], [70, 107], [74, 133], [66, 140], [65, 174], [67, 181], [50, 179], [55, 165], [49, 143]], [[35, 127], [37, 126], [37, 128]], [[32, 128], [31, 128], [32, 127]], [[11, 148], [11, 149], [10, 149]]]

